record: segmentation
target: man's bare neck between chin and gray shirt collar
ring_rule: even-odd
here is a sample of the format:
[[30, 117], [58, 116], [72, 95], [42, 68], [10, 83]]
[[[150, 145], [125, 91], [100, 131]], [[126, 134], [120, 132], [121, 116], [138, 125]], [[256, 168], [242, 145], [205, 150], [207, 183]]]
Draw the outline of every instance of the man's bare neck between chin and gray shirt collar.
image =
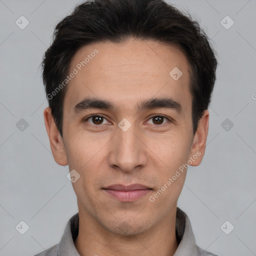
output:
[[91, 215], [79, 210], [79, 232], [74, 245], [81, 256], [171, 256], [178, 246], [175, 219], [176, 205], [147, 231], [123, 236], [107, 231]]

